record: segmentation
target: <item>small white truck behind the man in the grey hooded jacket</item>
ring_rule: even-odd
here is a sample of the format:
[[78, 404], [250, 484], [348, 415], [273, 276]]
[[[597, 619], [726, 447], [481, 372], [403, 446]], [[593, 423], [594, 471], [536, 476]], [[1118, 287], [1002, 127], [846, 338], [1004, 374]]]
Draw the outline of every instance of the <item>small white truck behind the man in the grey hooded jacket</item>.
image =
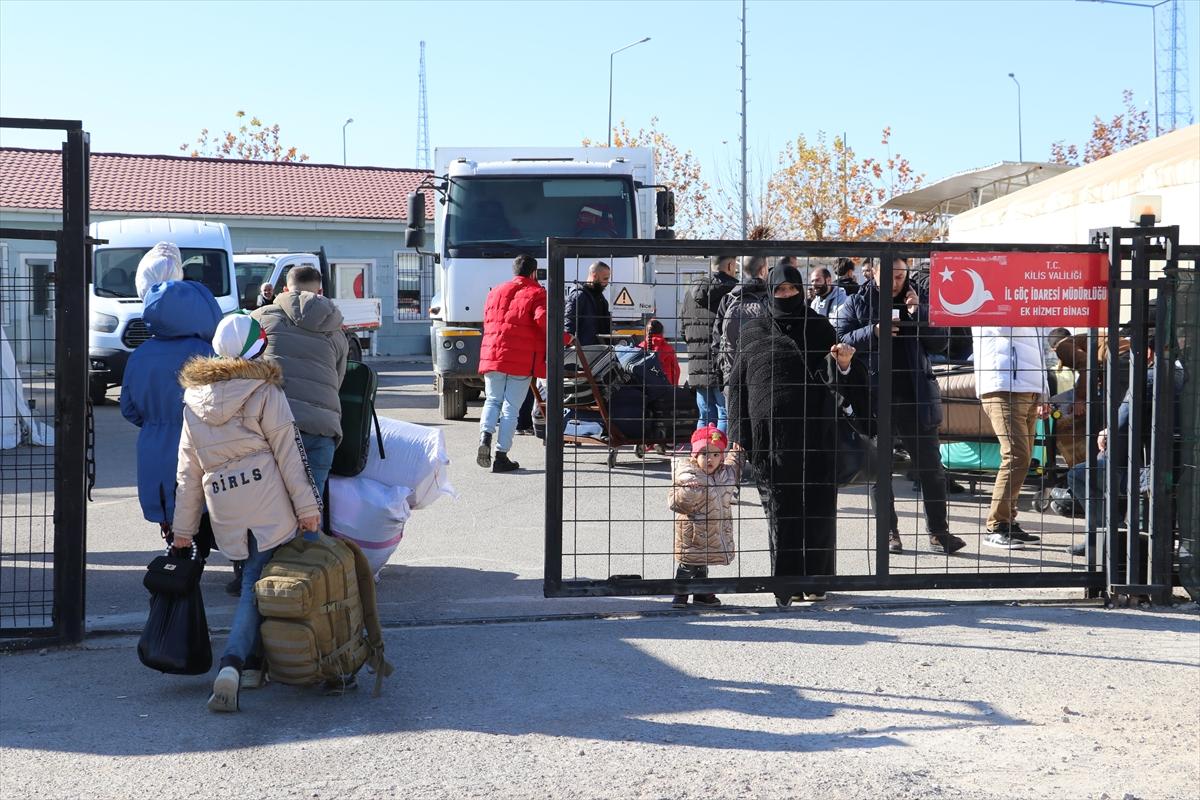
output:
[[[325, 294], [329, 295], [329, 261], [325, 249], [316, 253], [239, 253], [233, 257], [238, 273], [238, 285], [241, 287], [241, 307], [253, 311], [257, 306], [258, 290], [264, 283], [275, 287], [275, 293], [283, 291], [287, 285], [288, 271], [296, 266], [312, 266], [320, 270]], [[370, 350], [371, 337], [379, 330], [383, 321], [383, 308], [378, 297], [338, 299], [330, 297], [342, 312], [342, 330], [350, 344], [350, 360], [361, 361], [364, 350]]]

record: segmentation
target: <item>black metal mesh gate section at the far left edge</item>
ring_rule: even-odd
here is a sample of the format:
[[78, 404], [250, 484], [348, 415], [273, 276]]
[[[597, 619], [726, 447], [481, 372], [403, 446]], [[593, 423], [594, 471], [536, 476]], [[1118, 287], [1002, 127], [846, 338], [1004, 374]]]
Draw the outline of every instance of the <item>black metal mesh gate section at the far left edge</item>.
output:
[[66, 133], [62, 227], [0, 228], [0, 240], [55, 245], [53, 260], [0, 276], [0, 638], [76, 643], [84, 633], [89, 137], [72, 120], [0, 118], [0, 128]]

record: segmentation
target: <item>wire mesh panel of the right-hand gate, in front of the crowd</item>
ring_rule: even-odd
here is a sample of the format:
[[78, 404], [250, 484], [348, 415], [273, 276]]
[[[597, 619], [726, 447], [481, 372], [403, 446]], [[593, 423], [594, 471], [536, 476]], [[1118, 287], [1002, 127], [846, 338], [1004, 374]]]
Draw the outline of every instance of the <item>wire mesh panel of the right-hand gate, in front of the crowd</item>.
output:
[[[930, 246], [810, 246], [551, 247], [547, 594], [1098, 589], [1108, 331], [932, 325]], [[659, 325], [598, 330], [638, 270]]]

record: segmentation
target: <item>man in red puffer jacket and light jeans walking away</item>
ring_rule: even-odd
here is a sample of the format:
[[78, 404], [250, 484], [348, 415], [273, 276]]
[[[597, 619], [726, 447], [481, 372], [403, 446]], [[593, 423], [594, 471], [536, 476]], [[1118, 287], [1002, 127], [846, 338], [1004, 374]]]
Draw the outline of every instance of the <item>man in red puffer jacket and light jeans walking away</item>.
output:
[[[484, 413], [479, 419], [479, 453], [475, 463], [493, 473], [520, 468], [509, 458], [517, 410], [529, 391], [530, 378], [546, 377], [546, 290], [538, 283], [533, 255], [512, 259], [508, 283], [487, 295], [484, 307], [484, 342], [479, 373], [484, 375]], [[496, 457], [492, 457], [492, 435]]]

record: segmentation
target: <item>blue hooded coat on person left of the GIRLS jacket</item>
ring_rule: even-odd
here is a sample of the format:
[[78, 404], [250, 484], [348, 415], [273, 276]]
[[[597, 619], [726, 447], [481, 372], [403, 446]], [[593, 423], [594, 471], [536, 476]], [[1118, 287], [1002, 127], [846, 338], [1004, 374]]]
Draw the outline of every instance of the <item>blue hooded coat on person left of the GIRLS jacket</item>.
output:
[[175, 463], [184, 429], [179, 371], [196, 355], [211, 356], [221, 321], [216, 297], [202, 283], [167, 281], [146, 291], [142, 319], [151, 337], [130, 356], [121, 385], [121, 415], [138, 433], [138, 500], [163, 536], [175, 517]]

